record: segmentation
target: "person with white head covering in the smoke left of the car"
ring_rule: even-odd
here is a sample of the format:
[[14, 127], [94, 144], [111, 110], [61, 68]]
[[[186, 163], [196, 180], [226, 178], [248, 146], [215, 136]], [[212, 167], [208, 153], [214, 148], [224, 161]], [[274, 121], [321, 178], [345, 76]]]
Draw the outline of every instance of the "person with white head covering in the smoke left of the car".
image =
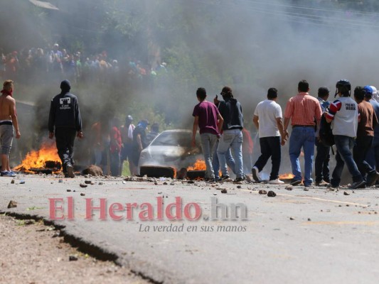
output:
[[133, 117], [128, 115], [125, 119], [125, 124], [121, 126], [119, 132], [121, 133], [122, 148], [121, 148], [121, 158], [120, 158], [120, 169], [119, 173], [122, 174], [122, 167], [124, 160], [129, 162], [130, 175], [137, 175], [137, 165], [134, 165], [132, 159], [133, 151], [133, 131], [136, 128], [132, 124]]

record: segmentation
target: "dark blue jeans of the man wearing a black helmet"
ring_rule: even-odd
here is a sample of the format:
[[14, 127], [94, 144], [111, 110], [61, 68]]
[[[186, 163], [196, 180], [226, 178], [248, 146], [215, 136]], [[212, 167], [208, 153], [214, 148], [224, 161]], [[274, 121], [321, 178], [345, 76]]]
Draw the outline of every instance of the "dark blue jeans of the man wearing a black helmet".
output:
[[341, 182], [341, 175], [343, 170], [343, 165], [348, 166], [348, 171], [353, 176], [353, 182], [360, 182], [363, 180], [361, 173], [358, 170], [356, 162], [353, 160], [353, 153], [351, 150], [356, 144], [356, 140], [353, 137], [335, 135], [334, 142], [336, 143], [337, 154], [336, 154], [336, 168], [333, 170], [331, 175], [331, 186], [338, 187]]

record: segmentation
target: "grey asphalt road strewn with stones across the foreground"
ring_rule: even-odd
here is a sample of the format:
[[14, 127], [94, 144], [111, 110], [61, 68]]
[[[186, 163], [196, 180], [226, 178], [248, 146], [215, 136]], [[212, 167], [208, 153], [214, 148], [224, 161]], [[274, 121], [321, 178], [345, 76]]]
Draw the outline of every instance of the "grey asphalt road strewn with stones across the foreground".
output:
[[[85, 180], [94, 185], [80, 187]], [[0, 178], [0, 211], [51, 219], [49, 199], [63, 199], [64, 204], [56, 201], [64, 209], [56, 209], [56, 217], [73, 212], [73, 219], [54, 222], [65, 226], [65, 234], [112, 253], [117, 263], [156, 283], [378, 283], [378, 190], [156, 183], [84, 177], [59, 182], [52, 176], [20, 175], [11, 184], [11, 178]], [[260, 195], [259, 190], [273, 190], [277, 196]], [[166, 209], [178, 197], [183, 216], [171, 221], [157, 200]], [[91, 221], [85, 219], [90, 198], [95, 207], [100, 199], [107, 200], [104, 220], [100, 210], [89, 212]], [[212, 219], [215, 198], [228, 208], [228, 220], [222, 219], [221, 209], [218, 219]], [[17, 207], [7, 209], [10, 200]], [[132, 207], [125, 209], [127, 203]], [[237, 210], [230, 220], [233, 204], [246, 208], [246, 219]], [[113, 218], [121, 216], [119, 221], [109, 211], [117, 206], [123, 207], [113, 212]], [[201, 216], [191, 221], [196, 208]], [[176, 214], [171, 210], [171, 217]]]

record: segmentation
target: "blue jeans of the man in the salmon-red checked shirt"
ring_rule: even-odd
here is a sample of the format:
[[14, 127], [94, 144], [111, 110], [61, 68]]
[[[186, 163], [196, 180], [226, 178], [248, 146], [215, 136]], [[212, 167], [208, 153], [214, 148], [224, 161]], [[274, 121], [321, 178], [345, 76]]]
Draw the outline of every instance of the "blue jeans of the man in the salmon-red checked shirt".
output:
[[312, 163], [314, 158], [314, 127], [294, 127], [289, 138], [289, 158], [292, 165], [294, 180], [301, 180], [299, 155], [301, 147], [304, 151], [304, 185], [312, 183]]

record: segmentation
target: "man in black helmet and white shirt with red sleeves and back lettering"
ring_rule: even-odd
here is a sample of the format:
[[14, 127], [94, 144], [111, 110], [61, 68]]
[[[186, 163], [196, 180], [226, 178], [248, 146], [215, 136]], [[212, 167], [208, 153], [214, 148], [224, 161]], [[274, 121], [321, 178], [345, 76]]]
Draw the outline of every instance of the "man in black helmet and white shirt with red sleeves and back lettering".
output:
[[326, 121], [331, 123], [334, 141], [336, 143], [336, 168], [333, 170], [331, 187], [339, 187], [343, 165], [348, 166], [353, 183], [351, 189], [365, 187], [365, 180], [358, 170], [356, 162], [353, 160], [354, 144], [356, 143], [356, 133], [358, 129], [358, 104], [351, 99], [351, 84], [348, 80], [339, 80], [336, 83], [336, 99], [326, 112]]

